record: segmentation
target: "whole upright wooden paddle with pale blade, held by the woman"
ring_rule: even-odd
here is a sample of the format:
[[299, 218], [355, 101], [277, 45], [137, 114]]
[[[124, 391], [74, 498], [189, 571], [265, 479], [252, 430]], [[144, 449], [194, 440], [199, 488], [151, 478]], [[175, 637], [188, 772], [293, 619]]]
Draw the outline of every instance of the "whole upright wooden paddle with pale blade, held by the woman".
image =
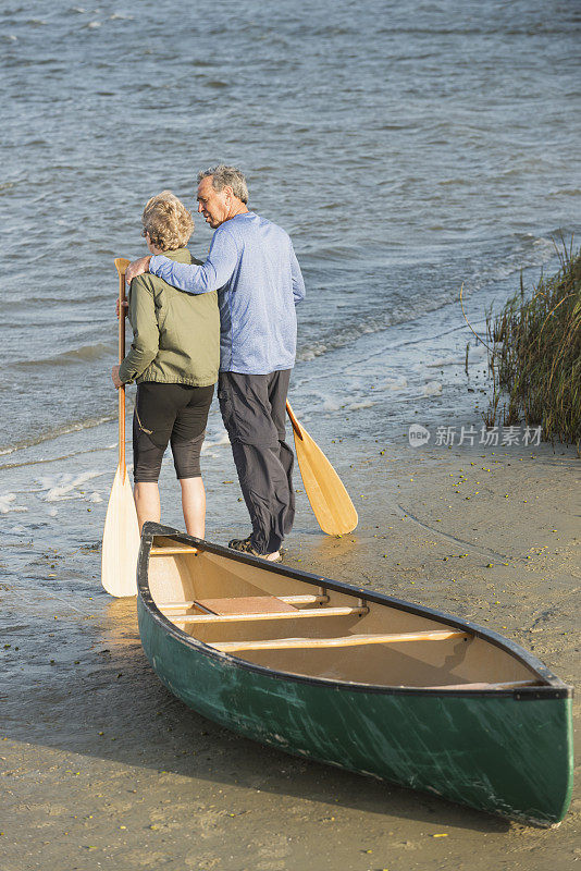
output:
[[[129, 265], [115, 259], [119, 272], [119, 361], [125, 357], [125, 271]], [[137, 592], [137, 553], [139, 526], [133, 492], [125, 467], [125, 388], [119, 389], [119, 465], [109, 496], [101, 550], [101, 582], [111, 596]]]

